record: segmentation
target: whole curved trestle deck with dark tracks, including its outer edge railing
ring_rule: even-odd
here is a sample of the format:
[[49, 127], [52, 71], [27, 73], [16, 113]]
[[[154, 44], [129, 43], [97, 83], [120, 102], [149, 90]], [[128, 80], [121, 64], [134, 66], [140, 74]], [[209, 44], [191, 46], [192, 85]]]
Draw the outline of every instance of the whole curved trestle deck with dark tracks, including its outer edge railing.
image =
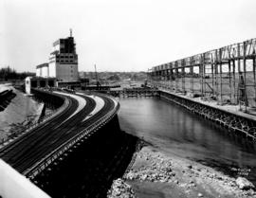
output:
[[[74, 115], [79, 106], [78, 100], [69, 96], [59, 97], [65, 100], [57, 114], [48, 117], [44, 122], [0, 149], [0, 157], [27, 177], [31, 178], [44, 170], [49, 163], [82, 138], [100, 129], [119, 110], [117, 101], [101, 96], [105, 101], [104, 106], [94, 116], [88, 117], [95, 108], [96, 102], [90, 97], [80, 96], [86, 100], [86, 103], [84, 108]], [[84, 117], [88, 118], [84, 120]]]

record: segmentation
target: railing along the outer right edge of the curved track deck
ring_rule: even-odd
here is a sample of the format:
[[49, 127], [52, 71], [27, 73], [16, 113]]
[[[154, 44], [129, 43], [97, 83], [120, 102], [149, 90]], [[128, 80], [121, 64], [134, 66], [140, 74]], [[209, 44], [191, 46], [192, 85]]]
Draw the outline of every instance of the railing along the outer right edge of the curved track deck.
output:
[[[107, 119], [110, 119], [114, 115], [116, 115], [118, 111], [119, 111], [119, 102], [118, 102], [118, 105], [112, 111], [107, 113], [105, 116], [101, 117], [95, 123], [89, 125], [85, 129], [83, 129], [82, 132], [80, 132], [78, 135], [75, 135], [68, 141], [64, 142], [62, 145], [60, 145], [58, 148], [56, 148], [51, 153], [47, 154], [46, 157], [41, 159], [30, 169], [24, 171], [24, 175], [26, 175], [28, 178], [32, 178], [37, 173], [39, 173], [39, 170], [43, 171], [44, 169], [46, 169], [46, 166], [49, 165], [53, 160], [55, 160], [58, 156], [60, 156], [62, 153], [67, 151], [69, 148], [71, 148], [74, 144], [76, 144], [79, 140], [81, 140], [85, 135], [88, 135], [89, 133], [91, 133], [98, 127], [100, 127], [100, 125], [103, 124], [104, 122], [106, 122]], [[46, 162], [48, 162], [48, 163], [46, 163]]]

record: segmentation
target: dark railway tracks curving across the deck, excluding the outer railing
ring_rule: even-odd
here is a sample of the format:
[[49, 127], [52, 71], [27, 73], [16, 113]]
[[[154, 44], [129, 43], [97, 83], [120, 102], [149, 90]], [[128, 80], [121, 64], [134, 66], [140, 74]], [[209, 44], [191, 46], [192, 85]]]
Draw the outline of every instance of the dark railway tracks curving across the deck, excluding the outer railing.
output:
[[[99, 96], [104, 100], [103, 107], [95, 115], [88, 117], [96, 106], [95, 100], [85, 95], [77, 96], [86, 101], [81, 111], [72, 116], [79, 106], [78, 100], [62, 96], [68, 100], [66, 109], [57, 117], [53, 117], [43, 125], [34, 128], [31, 132], [2, 148], [0, 158], [9, 163], [16, 171], [25, 173], [48, 153], [81, 133], [84, 128], [93, 125], [115, 106], [113, 99]], [[84, 117], [88, 118], [83, 120]]]

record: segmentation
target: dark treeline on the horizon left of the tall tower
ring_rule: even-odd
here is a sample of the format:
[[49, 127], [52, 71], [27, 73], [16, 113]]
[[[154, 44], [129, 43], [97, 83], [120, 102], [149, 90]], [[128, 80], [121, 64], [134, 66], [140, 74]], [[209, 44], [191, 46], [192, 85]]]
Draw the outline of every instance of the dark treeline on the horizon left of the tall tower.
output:
[[12, 80], [25, 80], [27, 76], [35, 76], [35, 73], [31, 72], [16, 72], [15, 69], [11, 69], [9, 66], [0, 68], [0, 81], [12, 81]]

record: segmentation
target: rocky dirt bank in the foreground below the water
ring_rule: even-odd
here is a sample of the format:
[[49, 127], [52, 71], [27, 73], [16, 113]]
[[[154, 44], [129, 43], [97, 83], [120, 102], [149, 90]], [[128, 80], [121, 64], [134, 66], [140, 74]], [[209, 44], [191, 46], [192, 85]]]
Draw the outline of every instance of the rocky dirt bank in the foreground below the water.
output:
[[231, 178], [222, 172], [143, 147], [122, 179], [114, 181], [108, 197], [225, 197], [256, 198], [253, 185], [245, 178]]

